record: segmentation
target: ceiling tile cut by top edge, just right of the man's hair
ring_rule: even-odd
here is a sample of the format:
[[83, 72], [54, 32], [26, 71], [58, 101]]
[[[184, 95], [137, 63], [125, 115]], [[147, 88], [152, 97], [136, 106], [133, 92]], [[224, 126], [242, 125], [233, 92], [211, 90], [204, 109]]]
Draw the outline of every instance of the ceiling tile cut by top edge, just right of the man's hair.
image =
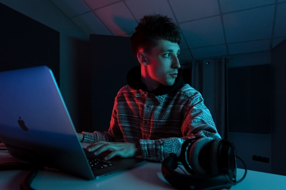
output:
[[179, 23], [219, 15], [219, 5], [214, 0], [169, 1]]

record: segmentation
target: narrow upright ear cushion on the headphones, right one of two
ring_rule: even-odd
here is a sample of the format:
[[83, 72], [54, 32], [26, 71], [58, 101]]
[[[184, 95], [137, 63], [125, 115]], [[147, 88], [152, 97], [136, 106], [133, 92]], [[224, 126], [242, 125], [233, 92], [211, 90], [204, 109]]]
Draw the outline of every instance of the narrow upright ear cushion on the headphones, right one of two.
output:
[[210, 148], [210, 172], [219, 174], [219, 157], [221, 155], [222, 139], [215, 139]]

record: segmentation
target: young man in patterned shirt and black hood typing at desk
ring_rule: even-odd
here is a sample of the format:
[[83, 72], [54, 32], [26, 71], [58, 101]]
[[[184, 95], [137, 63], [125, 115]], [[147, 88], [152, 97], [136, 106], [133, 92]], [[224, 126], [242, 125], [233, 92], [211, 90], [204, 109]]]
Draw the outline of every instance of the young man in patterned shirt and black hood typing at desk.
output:
[[98, 155], [135, 157], [162, 162], [180, 154], [184, 140], [220, 138], [201, 94], [184, 84], [178, 55], [180, 31], [168, 17], [144, 16], [130, 42], [140, 66], [127, 74], [128, 85], [115, 98], [106, 132], [82, 132], [81, 142]]

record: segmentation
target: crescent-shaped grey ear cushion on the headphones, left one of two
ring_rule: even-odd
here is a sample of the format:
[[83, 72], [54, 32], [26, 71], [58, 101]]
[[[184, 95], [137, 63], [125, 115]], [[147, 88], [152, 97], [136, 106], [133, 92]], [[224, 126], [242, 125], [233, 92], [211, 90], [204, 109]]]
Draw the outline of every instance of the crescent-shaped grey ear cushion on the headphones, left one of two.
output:
[[210, 137], [202, 137], [202, 138], [199, 138], [198, 140], [196, 140], [192, 144], [192, 146], [189, 147], [189, 150], [190, 150], [188, 153], [189, 163], [190, 163], [191, 168], [197, 174], [208, 174], [208, 173], [210, 173], [210, 171], [207, 171], [206, 169], [204, 169], [200, 165], [198, 157], [199, 157], [199, 153], [200, 153], [200, 150], [202, 149], [202, 147], [204, 147], [206, 144], [208, 144], [212, 140], [214, 140], [214, 139], [210, 138]]

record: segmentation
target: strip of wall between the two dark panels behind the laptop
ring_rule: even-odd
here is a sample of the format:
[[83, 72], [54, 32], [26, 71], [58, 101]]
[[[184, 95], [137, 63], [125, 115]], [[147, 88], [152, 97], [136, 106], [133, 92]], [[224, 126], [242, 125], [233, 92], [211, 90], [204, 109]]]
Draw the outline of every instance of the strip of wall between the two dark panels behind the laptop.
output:
[[90, 43], [60, 35], [61, 94], [77, 132], [92, 131]]

